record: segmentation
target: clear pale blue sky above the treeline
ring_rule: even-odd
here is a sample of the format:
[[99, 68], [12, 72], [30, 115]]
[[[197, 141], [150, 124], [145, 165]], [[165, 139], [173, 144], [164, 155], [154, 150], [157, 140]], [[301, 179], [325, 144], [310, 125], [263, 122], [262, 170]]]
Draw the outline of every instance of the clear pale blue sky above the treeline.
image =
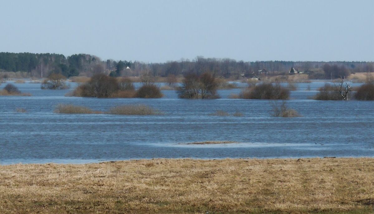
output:
[[373, 0], [0, 0], [0, 52], [374, 61]]

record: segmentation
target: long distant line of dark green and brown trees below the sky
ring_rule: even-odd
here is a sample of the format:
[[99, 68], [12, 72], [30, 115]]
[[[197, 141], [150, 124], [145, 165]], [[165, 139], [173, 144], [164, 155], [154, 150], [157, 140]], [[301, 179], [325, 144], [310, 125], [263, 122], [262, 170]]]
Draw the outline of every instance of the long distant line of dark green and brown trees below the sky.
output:
[[[51, 73], [59, 73], [65, 77], [78, 75], [91, 77], [99, 73], [110, 74], [111, 76], [139, 76], [143, 72], [150, 72], [154, 76], [166, 77], [171, 74], [184, 75], [211, 72], [216, 77], [238, 78], [241, 74], [246, 77], [251, 74], [257, 74], [260, 69], [265, 69], [268, 75], [285, 74], [291, 67], [300, 71], [320, 71], [326, 77], [334, 75], [334, 72], [337, 75], [340, 75], [340, 73], [374, 72], [373, 62], [244, 62], [234, 59], [203, 58], [198, 56], [192, 61], [181, 59], [180, 61], [165, 63], [144, 63], [126, 60], [113, 61], [110, 59], [102, 61], [97, 56], [89, 54], [74, 54], [65, 57], [55, 53], [0, 53], [0, 71], [27, 72], [27, 77], [46, 77]], [[328, 69], [328, 71], [323, 72], [324, 68]], [[344, 72], [336, 72], [337, 69], [343, 69]]]

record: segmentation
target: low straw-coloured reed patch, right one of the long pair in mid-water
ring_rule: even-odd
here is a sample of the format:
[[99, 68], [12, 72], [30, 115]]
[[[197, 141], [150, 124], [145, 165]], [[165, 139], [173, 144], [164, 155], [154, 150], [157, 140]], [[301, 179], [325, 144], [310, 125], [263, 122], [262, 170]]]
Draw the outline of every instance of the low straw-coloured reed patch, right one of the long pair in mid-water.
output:
[[146, 105], [123, 105], [123, 106], [116, 106], [116, 107], [111, 108], [108, 114], [153, 115], [153, 114], [160, 114], [160, 113]]

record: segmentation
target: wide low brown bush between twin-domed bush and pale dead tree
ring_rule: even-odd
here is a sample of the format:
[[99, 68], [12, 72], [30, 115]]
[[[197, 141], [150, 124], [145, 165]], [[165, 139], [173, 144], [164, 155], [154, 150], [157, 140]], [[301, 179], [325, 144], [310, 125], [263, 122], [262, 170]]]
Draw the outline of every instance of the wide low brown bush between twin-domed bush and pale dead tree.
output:
[[289, 89], [276, 83], [261, 83], [240, 92], [242, 99], [288, 99]]

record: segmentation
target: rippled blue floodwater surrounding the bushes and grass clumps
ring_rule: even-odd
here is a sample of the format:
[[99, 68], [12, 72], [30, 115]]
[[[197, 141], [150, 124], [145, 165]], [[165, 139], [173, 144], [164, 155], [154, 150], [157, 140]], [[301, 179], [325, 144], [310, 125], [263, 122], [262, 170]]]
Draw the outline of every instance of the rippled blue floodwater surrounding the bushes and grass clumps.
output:
[[[221, 99], [98, 99], [64, 96], [70, 90], [41, 90], [14, 83], [33, 96], [0, 96], [0, 164], [88, 163], [141, 158], [374, 157], [373, 101], [308, 99], [324, 83], [299, 83], [287, 101], [303, 117], [272, 117], [269, 100], [228, 99], [240, 89], [220, 90]], [[76, 83], [70, 83], [71, 88]], [[1, 84], [2, 89], [6, 84]], [[359, 84], [356, 84], [359, 85]], [[355, 84], [353, 84], [355, 86]], [[162, 115], [56, 114], [59, 103], [107, 111], [145, 104]], [[17, 113], [16, 108], [27, 109]], [[216, 110], [242, 117], [210, 116]], [[206, 140], [226, 145], [186, 145]]]

